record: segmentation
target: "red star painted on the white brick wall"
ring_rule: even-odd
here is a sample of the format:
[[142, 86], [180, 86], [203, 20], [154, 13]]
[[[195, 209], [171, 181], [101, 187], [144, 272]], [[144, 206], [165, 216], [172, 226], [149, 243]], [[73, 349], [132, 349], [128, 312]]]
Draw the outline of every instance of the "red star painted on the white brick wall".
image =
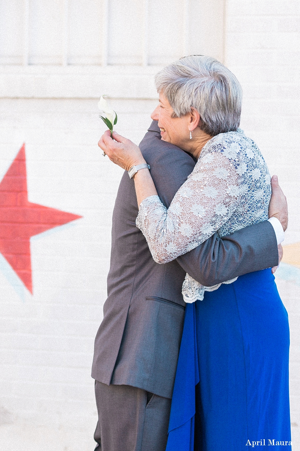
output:
[[23, 144], [0, 183], [0, 253], [31, 293], [30, 237], [81, 217], [28, 202]]

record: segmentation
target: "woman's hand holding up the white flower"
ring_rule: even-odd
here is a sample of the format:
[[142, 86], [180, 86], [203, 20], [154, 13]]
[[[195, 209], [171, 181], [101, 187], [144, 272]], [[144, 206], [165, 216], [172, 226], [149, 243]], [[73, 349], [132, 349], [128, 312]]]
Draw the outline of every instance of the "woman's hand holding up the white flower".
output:
[[126, 170], [129, 170], [134, 165], [145, 163], [140, 147], [132, 143], [130, 139], [123, 138], [116, 132], [113, 132], [113, 138], [110, 137], [110, 131], [107, 130], [98, 143], [98, 146], [109, 157], [109, 160]]

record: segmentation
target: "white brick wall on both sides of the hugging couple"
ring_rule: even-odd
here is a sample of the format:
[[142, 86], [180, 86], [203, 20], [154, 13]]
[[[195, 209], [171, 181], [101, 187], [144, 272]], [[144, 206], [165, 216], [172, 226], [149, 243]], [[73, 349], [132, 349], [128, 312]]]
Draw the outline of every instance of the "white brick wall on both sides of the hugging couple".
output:
[[[287, 195], [287, 243], [300, 241], [299, 21], [298, 1], [227, 0], [225, 56], [244, 89], [241, 126], [258, 143]], [[201, 53], [201, 48], [194, 52]], [[27, 78], [18, 87], [5, 75], [12, 96], [18, 90], [30, 94], [28, 79], [40, 83], [41, 96], [43, 83], [47, 95], [52, 89], [55, 96], [62, 96], [65, 89], [74, 96], [68, 78], [64, 89], [59, 86], [60, 68], [48, 81], [45, 74], [41, 81], [43, 70], [36, 69], [38, 76], [34, 70], [24, 69]], [[103, 84], [97, 87], [97, 74], [95, 69], [90, 91], [79, 83], [81, 92], [95, 97], [105, 86], [104, 93], [114, 95], [113, 76], [101, 78]], [[142, 76], [138, 79], [145, 86], [133, 89], [120, 82], [115, 95], [153, 93]], [[118, 132], [138, 143], [155, 104], [115, 99]], [[31, 240], [33, 296], [0, 258], [0, 451], [14, 450], [20, 443], [24, 451], [40, 451], [45, 443], [50, 451], [93, 449], [93, 341], [106, 296], [111, 213], [122, 175], [97, 147], [104, 124], [96, 107], [97, 101], [89, 99], [0, 101], [0, 178], [25, 142], [29, 200], [83, 216]], [[291, 324], [291, 419], [293, 450], [298, 451], [300, 287], [282, 278], [277, 278], [277, 285]]]

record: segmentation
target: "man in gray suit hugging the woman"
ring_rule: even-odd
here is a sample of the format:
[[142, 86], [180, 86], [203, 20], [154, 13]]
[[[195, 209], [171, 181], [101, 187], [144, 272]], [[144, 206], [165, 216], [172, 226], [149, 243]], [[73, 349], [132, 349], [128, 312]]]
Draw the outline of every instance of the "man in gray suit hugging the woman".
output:
[[[195, 161], [161, 141], [155, 121], [140, 148], [159, 197], [168, 207]], [[284, 216], [283, 195], [280, 200]], [[95, 338], [92, 367], [99, 414], [97, 451], [165, 449], [185, 311], [181, 291], [186, 272], [202, 285], [211, 286], [278, 264], [276, 233], [273, 225], [264, 221], [222, 239], [214, 234], [191, 252], [159, 265], [136, 227], [137, 214], [134, 181], [125, 171], [114, 207], [108, 298]]]

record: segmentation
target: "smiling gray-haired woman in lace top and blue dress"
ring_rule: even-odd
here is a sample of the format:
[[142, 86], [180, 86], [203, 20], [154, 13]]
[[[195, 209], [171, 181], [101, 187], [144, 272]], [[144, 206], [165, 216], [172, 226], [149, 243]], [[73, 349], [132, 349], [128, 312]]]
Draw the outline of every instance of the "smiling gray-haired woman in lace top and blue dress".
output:
[[[159, 106], [151, 118], [161, 139], [197, 160], [168, 210], [139, 147], [117, 133], [114, 141], [109, 132], [99, 146], [134, 176], [136, 226], [155, 261], [165, 263], [216, 231], [225, 236], [268, 219], [271, 184], [258, 147], [238, 128], [241, 86], [223, 64], [188, 56], [155, 81]], [[167, 451], [237, 451], [275, 442], [291, 449], [289, 327], [271, 268], [213, 287], [187, 274], [182, 294], [186, 315]]]

